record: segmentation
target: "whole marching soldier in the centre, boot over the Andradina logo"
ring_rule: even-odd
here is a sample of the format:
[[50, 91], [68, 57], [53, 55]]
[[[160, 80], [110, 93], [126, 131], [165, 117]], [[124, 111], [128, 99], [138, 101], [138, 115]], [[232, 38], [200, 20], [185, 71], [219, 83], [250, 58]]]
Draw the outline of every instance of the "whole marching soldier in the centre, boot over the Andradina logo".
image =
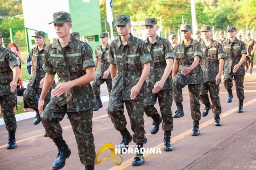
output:
[[[144, 99], [146, 97], [146, 83], [144, 82], [150, 70], [149, 62], [152, 61], [142, 39], [134, 37], [131, 29], [130, 16], [120, 14], [115, 19], [119, 37], [111, 42], [108, 61], [113, 79], [113, 88], [110, 93], [107, 107], [115, 129], [120, 131], [122, 142], [120, 149], [128, 148], [133, 139], [137, 143], [139, 153], [134, 157], [133, 165], [142, 165], [144, 157], [140, 148], [147, 143], [144, 130]], [[118, 72], [117, 72], [118, 71]], [[125, 103], [130, 121], [133, 137], [126, 129], [124, 113]]]

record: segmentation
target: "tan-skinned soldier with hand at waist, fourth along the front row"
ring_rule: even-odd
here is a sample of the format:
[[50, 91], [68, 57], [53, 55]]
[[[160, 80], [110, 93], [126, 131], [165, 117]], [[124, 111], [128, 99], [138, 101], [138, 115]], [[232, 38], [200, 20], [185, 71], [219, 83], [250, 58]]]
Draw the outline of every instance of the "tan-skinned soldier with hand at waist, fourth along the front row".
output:
[[194, 120], [192, 136], [197, 136], [199, 132], [200, 113], [200, 86], [204, 82], [204, 76], [199, 61], [202, 57], [202, 46], [192, 37], [192, 26], [190, 24], [181, 25], [181, 35], [183, 40], [174, 47], [173, 63], [173, 85], [174, 85], [174, 102], [176, 110], [173, 118], [184, 116], [182, 106], [182, 88], [188, 85], [191, 116]]

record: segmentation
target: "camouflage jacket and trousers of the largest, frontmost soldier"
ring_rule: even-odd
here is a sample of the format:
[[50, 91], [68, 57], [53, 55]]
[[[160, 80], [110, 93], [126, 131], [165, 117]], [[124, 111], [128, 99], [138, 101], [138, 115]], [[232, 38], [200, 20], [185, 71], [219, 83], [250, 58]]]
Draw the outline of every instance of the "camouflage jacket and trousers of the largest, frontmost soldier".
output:
[[[43, 70], [58, 74], [61, 82], [69, 82], [86, 74], [85, 69], [94, 67], [92, 51], [88, 44], [71, 36], [67, 46], [61, 47], [59, 40], [45, 48]], [[83, 165], [94, 165], [95, 148], [92, 134], [93, 107], [96, 100], [90, 83], [72, 87], [61, 96], [52, 97], [42, 114], [42, 123], [51, 139], [61, 137], [59, 124], [65, 113], [69, 116], [78, 154]]]

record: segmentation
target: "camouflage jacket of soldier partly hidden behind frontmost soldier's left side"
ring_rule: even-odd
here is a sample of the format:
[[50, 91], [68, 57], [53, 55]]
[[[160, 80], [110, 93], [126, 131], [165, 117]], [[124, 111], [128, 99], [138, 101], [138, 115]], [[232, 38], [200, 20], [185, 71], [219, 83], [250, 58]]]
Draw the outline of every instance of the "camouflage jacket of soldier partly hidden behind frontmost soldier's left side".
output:
[[[43, 63], [45, 63], [45, 47], [43, 44], [43, 49], [39, 50], [38, 47], [34, 47], [31, 52], [31, 65], [34, 66], [34, 71], [30, 76], [28, 86], [34, 86], [35, 88], [39, 88], [40, 80], [45, 77], [45, 72], [43, 71]], [[51, 88], [55, 88], [55, 82]]]

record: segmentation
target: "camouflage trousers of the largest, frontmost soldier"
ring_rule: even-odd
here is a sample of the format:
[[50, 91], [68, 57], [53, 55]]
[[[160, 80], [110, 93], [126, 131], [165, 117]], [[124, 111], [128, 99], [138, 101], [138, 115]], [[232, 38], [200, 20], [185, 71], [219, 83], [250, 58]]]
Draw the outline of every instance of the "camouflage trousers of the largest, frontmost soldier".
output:
[[69, 121], [75, 134], [81, 163], [83, 165], [94, 165], [96, 153], [92, 134], [93, 110], [67, 112], [67, 105], [60, 107], [51, 100], [41, 117], [48, 137], [55, 139], [62, 135], [62, 128], [59, 122], [64, 118], [66, 113], [69, 116]]

